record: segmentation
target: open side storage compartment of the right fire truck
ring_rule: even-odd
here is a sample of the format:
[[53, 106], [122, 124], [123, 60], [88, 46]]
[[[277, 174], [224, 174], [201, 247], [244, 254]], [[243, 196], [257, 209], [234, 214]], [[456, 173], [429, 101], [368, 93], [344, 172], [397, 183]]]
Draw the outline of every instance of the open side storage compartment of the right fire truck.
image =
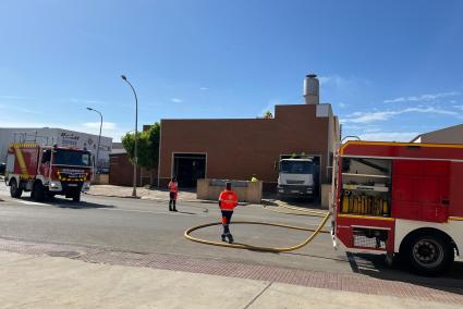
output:
[[[354, 248], [387, 250], [393, 236], [390, 221], [392, 160], [344, 157], [340, 168], [338, 215], [345, 218], [348, 223], [340, 236]], [[350, 224], [353, 219], [355, 224]]]

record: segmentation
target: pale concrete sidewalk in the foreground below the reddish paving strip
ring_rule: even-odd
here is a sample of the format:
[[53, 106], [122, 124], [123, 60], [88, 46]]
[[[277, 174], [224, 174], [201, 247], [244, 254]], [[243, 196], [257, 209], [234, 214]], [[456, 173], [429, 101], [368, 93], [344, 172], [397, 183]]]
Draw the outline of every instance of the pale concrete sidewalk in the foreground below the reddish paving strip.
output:
[[3, 251], [0, 277], [1, 308], [461, 308], [425, 299]]

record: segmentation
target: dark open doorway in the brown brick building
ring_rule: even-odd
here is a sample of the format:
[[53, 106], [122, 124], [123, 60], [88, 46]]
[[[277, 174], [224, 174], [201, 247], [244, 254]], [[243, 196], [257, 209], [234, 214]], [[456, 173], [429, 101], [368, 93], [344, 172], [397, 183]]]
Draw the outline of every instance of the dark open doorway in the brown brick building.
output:
[[173, 153], [172, 175], [179, 186], [196, 187], [197, 180], [206, 177], [206, 154]]

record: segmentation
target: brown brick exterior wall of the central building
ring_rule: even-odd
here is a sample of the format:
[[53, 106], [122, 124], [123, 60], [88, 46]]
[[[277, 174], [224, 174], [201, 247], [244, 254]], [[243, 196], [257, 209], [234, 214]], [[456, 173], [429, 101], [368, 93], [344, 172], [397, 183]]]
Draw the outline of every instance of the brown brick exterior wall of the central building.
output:
[[[320, 107], [328, 113], [316, 116]], [[207, 178], [248, 180], [256, 174], [259, 181], [273, 184], [280, 154], [317, 154], [321, 156], [321, 181], [330, 182], [325, 172], [330, 119], [329, 104], [297, 104], [277, 106], [275, 119], [162, 120], [160, 184], [171, 176], [175, 152], [206, 153]]]

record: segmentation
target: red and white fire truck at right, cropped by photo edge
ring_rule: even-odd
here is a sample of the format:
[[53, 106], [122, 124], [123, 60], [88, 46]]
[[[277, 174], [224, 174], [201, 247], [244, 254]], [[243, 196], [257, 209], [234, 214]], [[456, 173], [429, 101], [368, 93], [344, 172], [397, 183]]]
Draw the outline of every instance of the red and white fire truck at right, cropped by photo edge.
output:
[[348, 141], [337, 153], [334, 240], [426, 275], [463, 249], [463, 146]]

